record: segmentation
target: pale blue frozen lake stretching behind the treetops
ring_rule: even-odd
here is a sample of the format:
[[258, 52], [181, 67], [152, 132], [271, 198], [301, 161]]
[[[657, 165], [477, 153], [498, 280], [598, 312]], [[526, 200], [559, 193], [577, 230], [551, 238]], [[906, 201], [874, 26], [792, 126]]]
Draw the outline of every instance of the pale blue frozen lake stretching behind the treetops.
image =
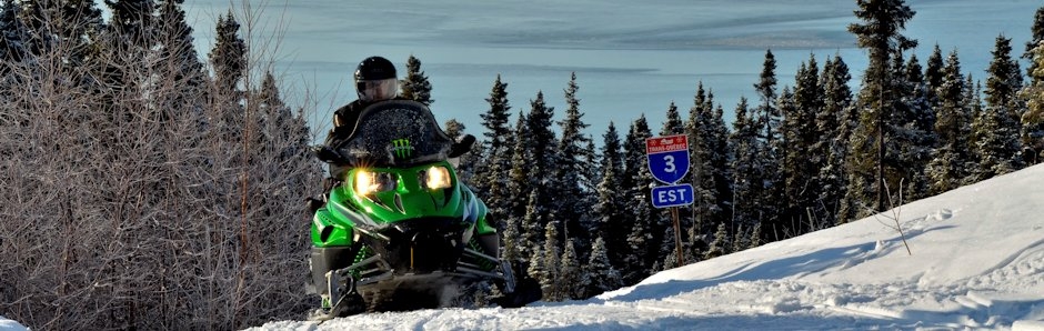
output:
[[[1038, 0], [907, 3], [917, 14], [905, 34], [920, 41], [922, 64], [937, 43], [944, 52], [957, 49], [964, 72], [975, 79], [985, 78], [998, 34], [1012, 38], [1014, 52], [1022, 53], [1042, 6]], [[240, 1], [229, 0], [184, 6], [195, 20], [190, 23], [201, 54], [213, 43], [215, 18], [230, 6], [237, 16], [243, 11]], [[332, 110], [354, 99], [351, 72], [360, 60], [389, 58], [401, 77], [413, 54], [432, 83], [439, 120], [455, 118], [476, 136], [496, 74], [508, 83], [513, 113], [528, 111], [543, 91], [561, 116], [563, 89], [575, 71], [588, 132], [600, 142], [610, 121], [626, 132], [641, 113], [659, 130], [672, 101], [685, 116], [700, 81], [731, 121], [741, 97], [757, 101], [752, 86], [766, 49], [776, 57], [780, 88], [793, 86], [810, 54], [822, 66], [835, 53], [857, 86], [866, 60], [846, 31], [855, 22], [854, 9], [851, 0], [270, 1], [255, 19], [254, 34], [273, 42], [272, 31], [283, 31], [275, 59], [284, 98], [311, 111], [320, 136]], [[313, 98], [304, 100], [305, 94]]]

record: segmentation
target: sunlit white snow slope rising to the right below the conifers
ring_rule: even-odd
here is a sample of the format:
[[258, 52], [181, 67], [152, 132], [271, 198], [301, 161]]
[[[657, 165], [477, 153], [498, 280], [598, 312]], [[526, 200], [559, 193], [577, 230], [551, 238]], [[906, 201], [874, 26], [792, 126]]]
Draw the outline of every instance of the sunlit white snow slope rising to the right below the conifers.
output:
[[248, 330], [1044, 330], [1042, 187], [1038, 164], [666, 270], [586, 301], [369, 313]]

